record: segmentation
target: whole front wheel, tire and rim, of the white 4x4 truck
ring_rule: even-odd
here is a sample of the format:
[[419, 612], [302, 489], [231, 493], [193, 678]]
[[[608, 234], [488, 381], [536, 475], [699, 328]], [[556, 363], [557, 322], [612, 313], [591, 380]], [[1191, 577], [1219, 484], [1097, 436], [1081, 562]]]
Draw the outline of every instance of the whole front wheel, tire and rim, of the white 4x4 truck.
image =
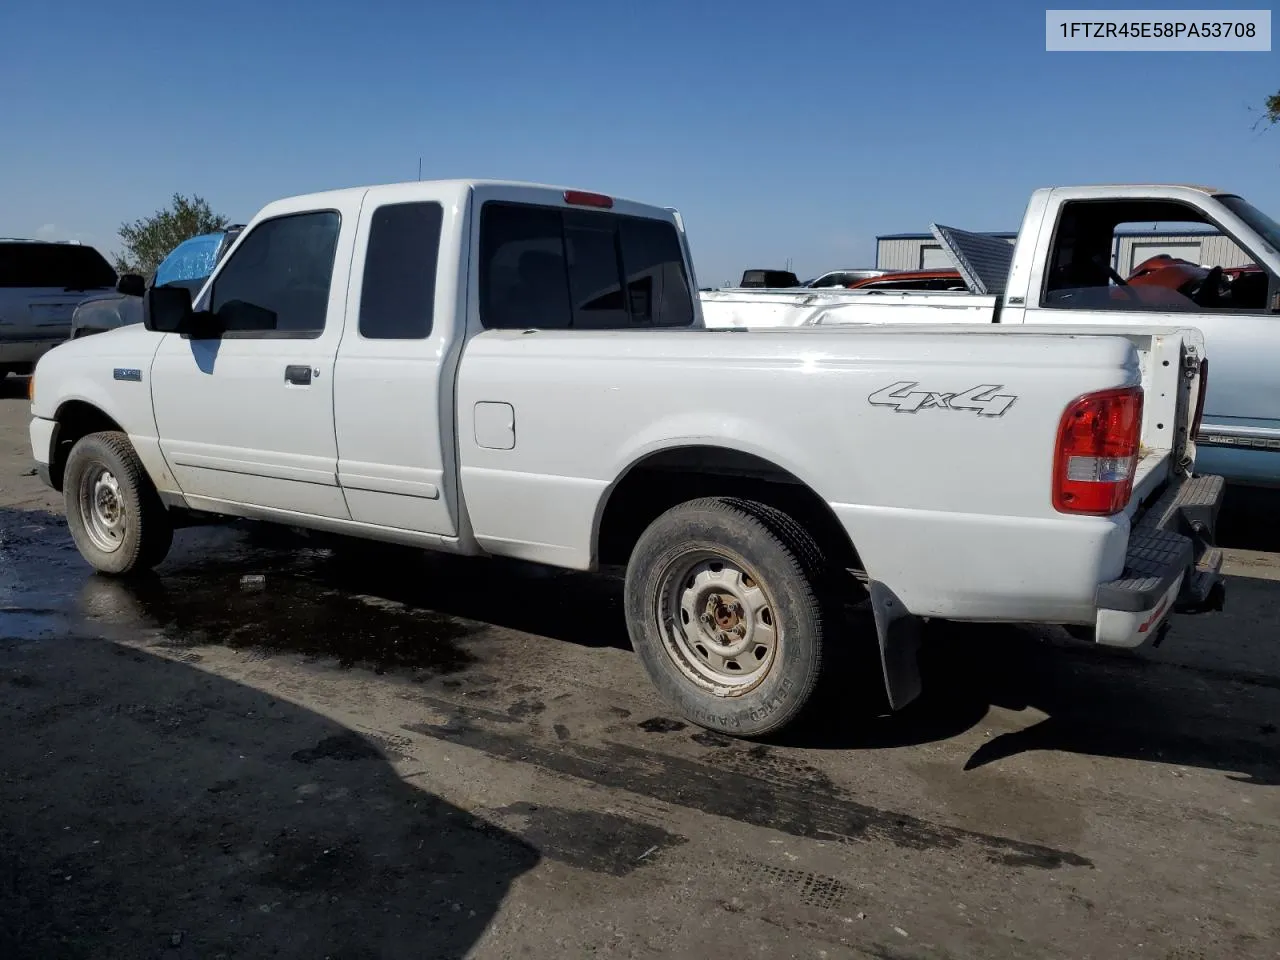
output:
[[[93, 504], [101, 486], [108, 488], [106, 506], [97, 512]], [[72, 539], [97, 571], [124, 576], [150, 570], [168, 556], [173, 521], [123, 433], [88, 434], [76, 442], [63, 472], [63, 498]], [[104, 513], [118, 521], [108, 524]]]

